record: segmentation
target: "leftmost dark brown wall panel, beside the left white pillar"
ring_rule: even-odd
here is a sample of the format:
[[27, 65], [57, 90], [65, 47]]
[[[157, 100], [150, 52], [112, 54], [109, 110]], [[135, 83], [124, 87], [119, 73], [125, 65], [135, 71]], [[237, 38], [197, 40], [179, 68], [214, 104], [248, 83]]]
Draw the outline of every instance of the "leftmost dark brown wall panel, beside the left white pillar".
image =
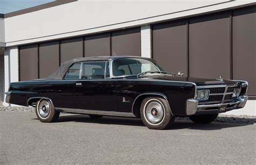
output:
[[19, 80], [38, 79], [37, 44], [19, 47]]

